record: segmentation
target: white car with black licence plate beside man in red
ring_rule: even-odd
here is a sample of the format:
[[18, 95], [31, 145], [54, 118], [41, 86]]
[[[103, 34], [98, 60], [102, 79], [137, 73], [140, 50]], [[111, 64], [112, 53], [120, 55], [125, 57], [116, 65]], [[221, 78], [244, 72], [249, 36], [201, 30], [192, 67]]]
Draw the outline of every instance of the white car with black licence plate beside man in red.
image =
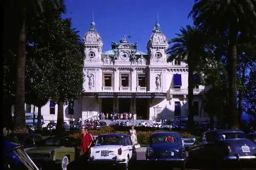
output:
[[89, 162], [109, 163], [127, 169], [136, 159], [137, 153], [129, 135], [104, 134], [97, 136]]

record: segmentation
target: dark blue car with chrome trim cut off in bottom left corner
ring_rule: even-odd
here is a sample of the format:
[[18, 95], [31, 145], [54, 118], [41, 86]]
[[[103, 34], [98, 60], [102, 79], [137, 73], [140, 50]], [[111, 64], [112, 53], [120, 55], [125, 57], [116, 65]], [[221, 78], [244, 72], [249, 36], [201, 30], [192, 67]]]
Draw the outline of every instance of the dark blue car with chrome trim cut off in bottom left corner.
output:
[[16, 141], [12, 138], [4, 138], [3, 153], [4, 170], [39, 170], [39, 168], [23, 150], [22, 145], [16, 143]]

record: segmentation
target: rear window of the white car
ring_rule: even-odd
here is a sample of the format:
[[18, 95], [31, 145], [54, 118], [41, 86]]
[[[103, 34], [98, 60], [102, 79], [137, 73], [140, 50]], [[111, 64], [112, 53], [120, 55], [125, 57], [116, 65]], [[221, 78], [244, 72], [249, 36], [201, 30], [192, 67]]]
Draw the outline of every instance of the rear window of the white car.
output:
[[98, 136], [96, 145], [124, 145], [123, 136]]

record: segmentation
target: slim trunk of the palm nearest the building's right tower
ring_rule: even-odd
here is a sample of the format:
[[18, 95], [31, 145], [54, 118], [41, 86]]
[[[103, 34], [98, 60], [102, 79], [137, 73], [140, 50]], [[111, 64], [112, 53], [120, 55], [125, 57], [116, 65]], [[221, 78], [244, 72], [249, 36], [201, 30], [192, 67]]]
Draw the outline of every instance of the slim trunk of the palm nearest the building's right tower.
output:
[[188, 129], [194, 130], [194, 112], [193, 112], [193, 68], [188, 61]]

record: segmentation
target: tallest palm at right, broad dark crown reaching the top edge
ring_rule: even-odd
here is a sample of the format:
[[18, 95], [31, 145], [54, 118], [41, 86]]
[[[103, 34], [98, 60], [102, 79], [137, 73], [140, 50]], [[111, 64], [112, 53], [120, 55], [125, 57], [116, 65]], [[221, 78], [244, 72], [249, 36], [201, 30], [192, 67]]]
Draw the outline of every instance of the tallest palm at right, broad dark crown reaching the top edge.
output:
[[253, 29], [256, 21], [255, 0], [195, 0], [196, 3], [188, 16], [194, 24], [202, 27], [208, 35], [228, 37], [227, 74], [228, 74], [228, 125], [238, 129], [237, 115], [237, 41], [240, 33]]

